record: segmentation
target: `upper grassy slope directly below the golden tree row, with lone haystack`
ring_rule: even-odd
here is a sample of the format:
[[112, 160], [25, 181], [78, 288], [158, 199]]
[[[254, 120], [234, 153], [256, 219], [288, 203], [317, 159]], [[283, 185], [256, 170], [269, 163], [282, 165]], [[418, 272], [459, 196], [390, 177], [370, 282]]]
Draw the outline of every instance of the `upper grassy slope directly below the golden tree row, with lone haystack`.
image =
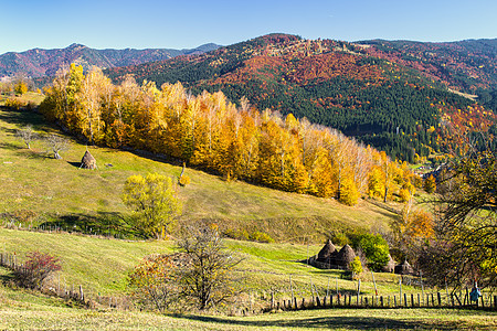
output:
[[[120, 194], [129, 175], [159, 172], [176, 178], [181, 172], [180, 167], [160, 160], [86, 147], [74, 140], [70, 150], [62, 152], [63, 160], [55, 160], [46, 157], [41, 142], [28, 150], [15, 139], [15, 130], [25, 125], [42, 134], [56, 131], [38, 114], [0, 108], [0, 213], [30, 211], [34, 223], [82, 215], [97, 221], [109, 214], [126, 217], [128, 211]], [[86, 149], [97, 160], [95, 171], [78, 169]], [[191, 184], [179, 192], [183, 201], [182, 222], [208, 218], [222, 228], [258, 229], [279, 241], [321, 242], [334, 228], [388, 226], [394, 217], [366, 201], [348, 207], [335, 200], [225, 182], [193, 169], [187, 169], [186, 174]]]

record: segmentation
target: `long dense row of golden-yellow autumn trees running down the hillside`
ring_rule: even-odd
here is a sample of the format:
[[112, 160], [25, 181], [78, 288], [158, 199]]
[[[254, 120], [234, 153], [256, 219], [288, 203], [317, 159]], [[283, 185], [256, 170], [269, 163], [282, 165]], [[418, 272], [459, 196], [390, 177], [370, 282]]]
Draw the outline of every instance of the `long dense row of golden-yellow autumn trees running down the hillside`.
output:
[[114, 85], [102, 71], [81, 66], [57, 73], [42, 113], [89, 143], [134, 148], [180, 159], [225, 179], [353, 205], [361, 194], [409, 200], [414, 178], [405, 164], [342, 134], [292, 114], [240, 106], [221, 93], [198, 96], [180, 83]]

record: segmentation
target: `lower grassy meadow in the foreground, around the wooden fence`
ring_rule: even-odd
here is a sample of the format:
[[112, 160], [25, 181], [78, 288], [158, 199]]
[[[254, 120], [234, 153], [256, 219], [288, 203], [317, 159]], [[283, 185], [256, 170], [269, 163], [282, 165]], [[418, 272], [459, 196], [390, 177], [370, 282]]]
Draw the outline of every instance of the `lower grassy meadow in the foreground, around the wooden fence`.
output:
[[[309, 296], [309, 279], [322, 296], [331, 278], [335, 290], [337, 270], [317, 270], [295, 259], [305, 258], [307, 246], [290, 244], [257, 244], [228, 241], [228, 246], [245, 257], [240, 266], [247, 276], [244, 284], [260, 301], [260, 296], [274, 290], [276, 299], [288, 298], [287, 281], [293, 276], [296, 296]], [[0, 229], [0, 248], [15, 250], [19, 259], [31, 249], [44, 249], [63, 259], [61, 279], [83, 284], [86, 293], [94, 297], [125, 293], [127, 271], [150, 253], [172, 249], [171, 242], [125, 242], [70, 234], [43, 234], [24, 231]], [[311, 254], [319, 246], [310, 246]], [[380, 295], [398, 290], [396, 277], [377, 274]], [[438, 329], [438, 330], [493, 330], [496, 313], [450, 309], [332, 309], [260, 314], [252, 317], [226, 316], [161, 316], [137, 310], [124, 311], [101, 307], [88, 310], [72, 307], [68, 302], [36, 292], [14, 289], [4, 285], [9, 273], [0, 268], [0, 329], [34, 330], [308, 330], [326, 328], [337, 330], [364, 329]], [[340, 292], [353, 291], [356, 282], [338, 278]], [[363, 293], [372, 295], [373, 286], [368, 275], [362, 282]], [[288, 290], [288, 289], [286, 289]], [[419, 291], [403, 287], [405, 292]], [[427, 289], [425, 289], [429, 291]], [[240, 302], [240, 301], [239, 301]], [[265, 300], [268, 303], [268, 298]], [[240, 305], [240, 303], [239, 303]]]

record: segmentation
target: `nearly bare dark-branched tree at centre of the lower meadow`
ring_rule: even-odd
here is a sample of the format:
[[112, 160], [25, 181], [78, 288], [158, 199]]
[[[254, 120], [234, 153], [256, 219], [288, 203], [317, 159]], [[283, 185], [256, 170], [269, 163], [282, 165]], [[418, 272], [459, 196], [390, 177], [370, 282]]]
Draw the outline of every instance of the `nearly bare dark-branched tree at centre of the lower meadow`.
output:
[[177, 245], [189, 260], [179, 270], [182, 298], [205, 310], [229, 301], [236, 293], [234, 267], [241, 259], [226, 250], [216, 228], [188, 227]]

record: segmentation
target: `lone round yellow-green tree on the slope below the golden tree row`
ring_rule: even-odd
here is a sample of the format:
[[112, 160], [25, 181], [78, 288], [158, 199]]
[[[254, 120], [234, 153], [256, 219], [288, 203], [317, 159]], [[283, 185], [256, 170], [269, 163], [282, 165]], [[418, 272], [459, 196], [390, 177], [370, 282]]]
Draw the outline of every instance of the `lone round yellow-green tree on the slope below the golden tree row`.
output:
[[165, 237], [182, 209], [171, 178], [158, 173], [129, 177], [123, 202], [133, 210], [135, 226], [156, 238]]

